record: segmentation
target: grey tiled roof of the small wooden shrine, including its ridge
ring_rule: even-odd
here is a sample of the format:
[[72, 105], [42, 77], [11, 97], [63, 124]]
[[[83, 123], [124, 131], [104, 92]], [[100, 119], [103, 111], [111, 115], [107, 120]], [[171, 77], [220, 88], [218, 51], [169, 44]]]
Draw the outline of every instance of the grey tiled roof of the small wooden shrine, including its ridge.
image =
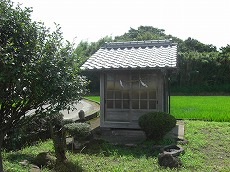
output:
[[175, 68], [177, 44], [170, 40], [105, 43], [82, 66], [83, 70]]

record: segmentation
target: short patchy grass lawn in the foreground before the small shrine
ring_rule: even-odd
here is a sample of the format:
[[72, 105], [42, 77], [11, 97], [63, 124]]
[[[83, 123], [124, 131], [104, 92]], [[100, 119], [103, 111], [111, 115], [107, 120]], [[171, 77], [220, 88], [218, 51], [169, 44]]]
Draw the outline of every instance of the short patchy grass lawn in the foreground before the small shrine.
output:
[[[82, 171], [230, 171], [230, 123], [185, 120], [185, 138], [182, 145], [185, 154], [181, 156], [182, 167], [165, 169], [158, 166], [158, 151], [154, 142], [145, 142], [138, 147], [111, 145], [94, 142], [82, 151], [67, 153], [68, 159]], [[168, 140], [158, 144], [170, 144]], [[53, 152], [51, 141], [26, 147], [16, 152], [3, 152], [4, 168], [9, 172], [27, 172], [28, 167], [19, 164], [25, 159], [32, 161], [41, 151]], [[42, 171], [50, 171], [43, 168]]]

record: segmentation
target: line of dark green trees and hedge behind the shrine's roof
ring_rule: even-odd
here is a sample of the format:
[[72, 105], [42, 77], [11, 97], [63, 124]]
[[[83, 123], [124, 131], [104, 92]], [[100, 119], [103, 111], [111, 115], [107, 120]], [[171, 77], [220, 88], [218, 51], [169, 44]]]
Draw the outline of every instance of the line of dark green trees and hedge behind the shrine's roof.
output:
[[[127, 33], [116, 36], [114, 39], [110, 38], [107, 42], [158, 39], [172, 39], [172, 42], [178, 43], [178, 71], [173, 80], [173, 86], [181, 87], [187, 85], [209, 85], [210, 83], [212, 85], [229, 83], [229, 45], [217, 51], [216, 47], [212, 44], [204, 44], [191, 37], [182, 40], [175, 36], [165, 34], [164, 29], [154, 28], [152, 26], [140, 26], [137, 29], [130, 28]], [[86, 60], [99, 49], [99, 45], [102, 45], [101, 43], [103, 41], [101, 40], [95, 43], [81, 42], [77, 47], [76, 53]], [[83, 45], [85, 45], [84, 49], [81, 48], [84, 47]], [[86, 75], [92, 81], [89, 87], [90, 90], [97, 92], [99, 90], [98, 75], [96, 73], [86, 73]]]

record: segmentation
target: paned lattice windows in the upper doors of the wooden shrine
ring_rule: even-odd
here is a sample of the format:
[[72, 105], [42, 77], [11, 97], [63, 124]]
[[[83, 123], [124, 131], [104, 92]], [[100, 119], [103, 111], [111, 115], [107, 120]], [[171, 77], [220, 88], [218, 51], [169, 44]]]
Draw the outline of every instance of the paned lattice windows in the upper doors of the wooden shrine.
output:
[[107, 109], [157, 109], [157, 77], [151, 73], [109, 73]]

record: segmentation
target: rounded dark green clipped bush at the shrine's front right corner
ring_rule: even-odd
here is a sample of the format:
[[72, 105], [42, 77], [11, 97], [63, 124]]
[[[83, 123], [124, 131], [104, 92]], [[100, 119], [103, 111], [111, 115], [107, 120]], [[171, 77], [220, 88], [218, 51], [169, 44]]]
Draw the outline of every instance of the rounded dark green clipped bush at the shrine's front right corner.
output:
[[138, 119], [147, 139], [159, 140], [176, 126], [176, 119], [165, 112], [150, 112]]

